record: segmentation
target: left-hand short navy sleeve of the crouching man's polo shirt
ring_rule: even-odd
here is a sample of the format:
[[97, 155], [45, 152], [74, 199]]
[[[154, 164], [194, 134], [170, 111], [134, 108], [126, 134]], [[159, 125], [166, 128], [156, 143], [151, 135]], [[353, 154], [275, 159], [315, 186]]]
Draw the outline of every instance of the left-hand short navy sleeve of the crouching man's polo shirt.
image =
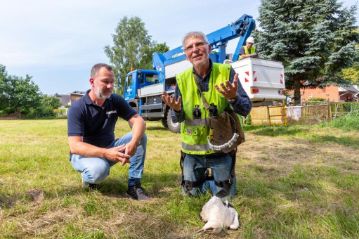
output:
[[77, 104], [71, 105], [67, 115], [67, 136], [84, 136], [84, 122], [84, 110], [81, 110]]

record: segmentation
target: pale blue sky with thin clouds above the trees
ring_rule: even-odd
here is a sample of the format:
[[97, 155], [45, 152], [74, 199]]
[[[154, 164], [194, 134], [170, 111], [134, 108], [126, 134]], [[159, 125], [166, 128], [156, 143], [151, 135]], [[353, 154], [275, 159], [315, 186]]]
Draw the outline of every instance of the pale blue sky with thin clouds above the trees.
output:
[[[344, 6], [356, 2], [347, 0]], [[91, 67], [109, 63], [103, 47], [112, 45], [111, 34], [125, 15], [140, 17], [152, 40], [174, 49], [181, 46], [186, 32], [208, 34], [243, 14], [256, 20], [259, 4], [259, 0], [3, 0], [0, 64], [9, 75], [32, 76], [41, 92], [49, 95], [86, 91]], [[228, 53], [234, 51], [237, 40], [233, 41]]]

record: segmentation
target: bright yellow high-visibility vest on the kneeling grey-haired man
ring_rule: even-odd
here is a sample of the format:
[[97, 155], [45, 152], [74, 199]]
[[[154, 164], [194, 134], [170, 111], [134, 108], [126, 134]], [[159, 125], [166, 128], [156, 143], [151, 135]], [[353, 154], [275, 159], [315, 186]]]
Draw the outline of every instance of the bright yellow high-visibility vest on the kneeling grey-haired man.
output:
[[[202, 92], [207, 103], [217, 105], [218, 113], [221, 113], [228, 107], [227, 99], [219, 93], [214, 85], [226, 84], [230, 77], [230, 65], [213, 63], [213, 69], [209, 76], [209, 91]], [[209, 126], [207, 118], [209, 112], [204, 108], [200, 92], [195, 84], [193, 77], [193, 68], [185, 70], [176, 75], [177, 85], [182, 94], [183, 111], [185, 112], [185, 121], [181, 123], [181, 141], [184, 153], [207, 155], [214, 153], [210, 150], [207, 136], [209, 135]], [[199, 105], [201, 110], [201, 119], [194, 119], [192, 110], [195, 105]]]

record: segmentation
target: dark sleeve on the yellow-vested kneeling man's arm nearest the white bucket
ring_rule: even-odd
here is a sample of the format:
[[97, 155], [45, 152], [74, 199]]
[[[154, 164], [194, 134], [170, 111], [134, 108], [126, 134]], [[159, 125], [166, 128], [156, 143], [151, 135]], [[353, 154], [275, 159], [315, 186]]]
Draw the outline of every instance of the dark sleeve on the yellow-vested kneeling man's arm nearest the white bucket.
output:
[[[233, 68], [230, 68], [230, 83], [233, 83], [233, 80], [235, 79], [235, 70]], [[249, 99], [249, 96], [247, 95], [246, 91], [244, 91], [242, 84], [240, 83], [240, 80], [238, 79], [238, 89], [237, 89], [237, 101], [235, 103], [230, 103], [233, 110], [242, 116], [247, 116], [249, 112], [252, 110], [252, 101]]]

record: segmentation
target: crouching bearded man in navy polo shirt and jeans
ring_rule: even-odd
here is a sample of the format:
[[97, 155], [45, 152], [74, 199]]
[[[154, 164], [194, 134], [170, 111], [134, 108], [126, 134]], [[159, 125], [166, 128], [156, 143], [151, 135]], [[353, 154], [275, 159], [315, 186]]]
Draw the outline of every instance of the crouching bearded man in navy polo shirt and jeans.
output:
[[[141, 178], [147, 137], [145, 121], [119, 95], [112, 94], [115, 74], [110, 65], [92, 67], [91, 89], [75, 101], [67, 117], [67, 135], [72, 167], [81, 172], [83, 186], [96, 188], [110, 174], [110, 167], [129, 163], [126, 195], [150, 200], [143, 192]], [[115, 140], [118, 117], [133, 125], [132, 131]]]

